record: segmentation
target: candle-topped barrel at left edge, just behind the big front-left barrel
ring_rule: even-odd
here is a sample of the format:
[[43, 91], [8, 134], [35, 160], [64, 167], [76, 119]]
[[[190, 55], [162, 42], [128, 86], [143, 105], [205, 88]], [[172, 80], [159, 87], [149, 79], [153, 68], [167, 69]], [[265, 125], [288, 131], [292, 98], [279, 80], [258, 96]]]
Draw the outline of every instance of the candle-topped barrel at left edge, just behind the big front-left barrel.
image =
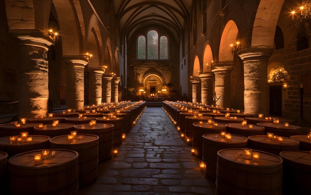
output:
[[31, 142], [10, 143], [10, 137], [0, 138], [0, 151], [8, 154], [8, 158], [27, 151], [49, 148], [50, 137], [47, 135], [29, 135]]

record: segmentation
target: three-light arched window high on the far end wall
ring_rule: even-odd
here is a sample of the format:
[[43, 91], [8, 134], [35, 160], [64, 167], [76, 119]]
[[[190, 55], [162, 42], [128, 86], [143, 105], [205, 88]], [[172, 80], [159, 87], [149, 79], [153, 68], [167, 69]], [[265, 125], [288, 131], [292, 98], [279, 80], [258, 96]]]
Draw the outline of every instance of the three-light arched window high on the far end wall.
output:
[[[147, 53], [147, 55], [146, 55]], [[137, 38], [138, 60], [168, 60], [168, 39], [166, 36], [158, 37], [155, 30], [150, 30], [146, 37], [141, 35]]]

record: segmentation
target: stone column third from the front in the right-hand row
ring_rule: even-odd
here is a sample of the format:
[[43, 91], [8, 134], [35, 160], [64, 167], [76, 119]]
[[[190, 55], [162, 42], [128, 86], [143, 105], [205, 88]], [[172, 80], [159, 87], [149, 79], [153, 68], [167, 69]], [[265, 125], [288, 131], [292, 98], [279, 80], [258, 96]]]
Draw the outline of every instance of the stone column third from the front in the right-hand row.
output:
[[201, 79], [201, 103], [203, 105], [213, 104], [213, 83], [212, 77], [213, 73], [203, 72], [199, 74]]

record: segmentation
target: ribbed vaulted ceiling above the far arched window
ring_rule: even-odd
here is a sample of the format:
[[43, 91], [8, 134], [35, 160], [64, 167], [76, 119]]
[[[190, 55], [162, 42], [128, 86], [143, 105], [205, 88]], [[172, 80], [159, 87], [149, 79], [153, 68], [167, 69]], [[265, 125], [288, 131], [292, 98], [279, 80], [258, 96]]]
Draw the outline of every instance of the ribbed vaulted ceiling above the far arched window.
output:
[[131, 36], [138, 28], [158, 24], [175, 36], [182, 36], [189, 22], [193, 0], [113, 0], [121, 36]]

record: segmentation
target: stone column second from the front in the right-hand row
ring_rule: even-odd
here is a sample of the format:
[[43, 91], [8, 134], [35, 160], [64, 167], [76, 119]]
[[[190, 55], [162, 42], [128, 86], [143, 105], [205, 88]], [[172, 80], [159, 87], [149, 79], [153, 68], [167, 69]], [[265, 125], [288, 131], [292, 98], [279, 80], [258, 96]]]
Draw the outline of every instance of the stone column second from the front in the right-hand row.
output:
[[230, 73], [233, 63], [217, 63], [214, 64], [212, 72], [215, 74], [215, 93], [219, 100], [216, 105], [223, 108], [230, 108], [231, 106], [231, 78]]

